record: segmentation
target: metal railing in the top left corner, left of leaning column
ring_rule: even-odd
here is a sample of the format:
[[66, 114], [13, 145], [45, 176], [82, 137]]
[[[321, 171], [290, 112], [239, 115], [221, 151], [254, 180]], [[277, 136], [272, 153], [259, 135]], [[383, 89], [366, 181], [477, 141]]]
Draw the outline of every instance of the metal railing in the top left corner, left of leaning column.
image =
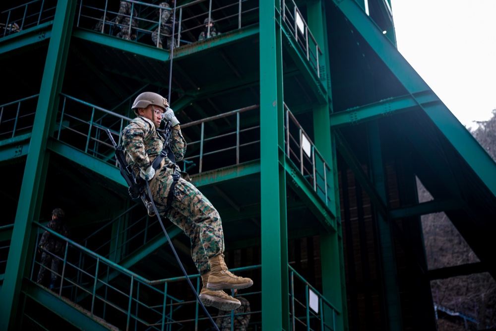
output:
[[34, 0], [2, 11], [0, 13], [2, 36], [53, 20], [56, 5], [57, 1], [53, 0]]

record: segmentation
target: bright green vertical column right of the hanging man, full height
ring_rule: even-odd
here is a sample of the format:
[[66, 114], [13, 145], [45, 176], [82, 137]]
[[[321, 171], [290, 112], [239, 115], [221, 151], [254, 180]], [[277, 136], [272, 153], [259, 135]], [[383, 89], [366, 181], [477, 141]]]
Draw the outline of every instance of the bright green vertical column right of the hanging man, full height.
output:
[[289, 330], [280, 1], [260, 1], [262, 329]]

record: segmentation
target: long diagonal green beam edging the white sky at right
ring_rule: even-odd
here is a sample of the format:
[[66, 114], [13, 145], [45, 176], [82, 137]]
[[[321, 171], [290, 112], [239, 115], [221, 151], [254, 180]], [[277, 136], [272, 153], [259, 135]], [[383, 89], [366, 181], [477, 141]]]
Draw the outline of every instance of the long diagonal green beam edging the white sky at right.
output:
[[[416, 93], [431, 90], [417, 71], [382, 34], [382, 31], [377, 29], [355, 0], [334, 0], [334, 3], [415, 99], [417, 99]], [[432, 94], [437, 98], [434, 92]], [[422, 106], [422, 109], [491, 193], [496, 196], [496, 181], [494, 180], [496, 163], [491, 156], [442, 102]]]

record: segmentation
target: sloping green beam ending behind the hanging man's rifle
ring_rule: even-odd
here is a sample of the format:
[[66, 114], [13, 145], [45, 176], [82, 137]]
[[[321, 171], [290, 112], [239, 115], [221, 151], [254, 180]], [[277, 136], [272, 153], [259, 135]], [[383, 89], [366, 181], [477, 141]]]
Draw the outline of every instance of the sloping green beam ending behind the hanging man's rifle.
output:
[[80, 164], [85, 168], [88, 168], [118, 184], [123, 185], [124, 187], [127, 187], [127, 183], [124, 181], [119, 169], [107, 162], [88, 155], [87, 153], [77, 150], [74, 147], [66, 145], [56, 139], [49, 139], [47, 142], [47, 148], [71, 160], [72, 162]]

